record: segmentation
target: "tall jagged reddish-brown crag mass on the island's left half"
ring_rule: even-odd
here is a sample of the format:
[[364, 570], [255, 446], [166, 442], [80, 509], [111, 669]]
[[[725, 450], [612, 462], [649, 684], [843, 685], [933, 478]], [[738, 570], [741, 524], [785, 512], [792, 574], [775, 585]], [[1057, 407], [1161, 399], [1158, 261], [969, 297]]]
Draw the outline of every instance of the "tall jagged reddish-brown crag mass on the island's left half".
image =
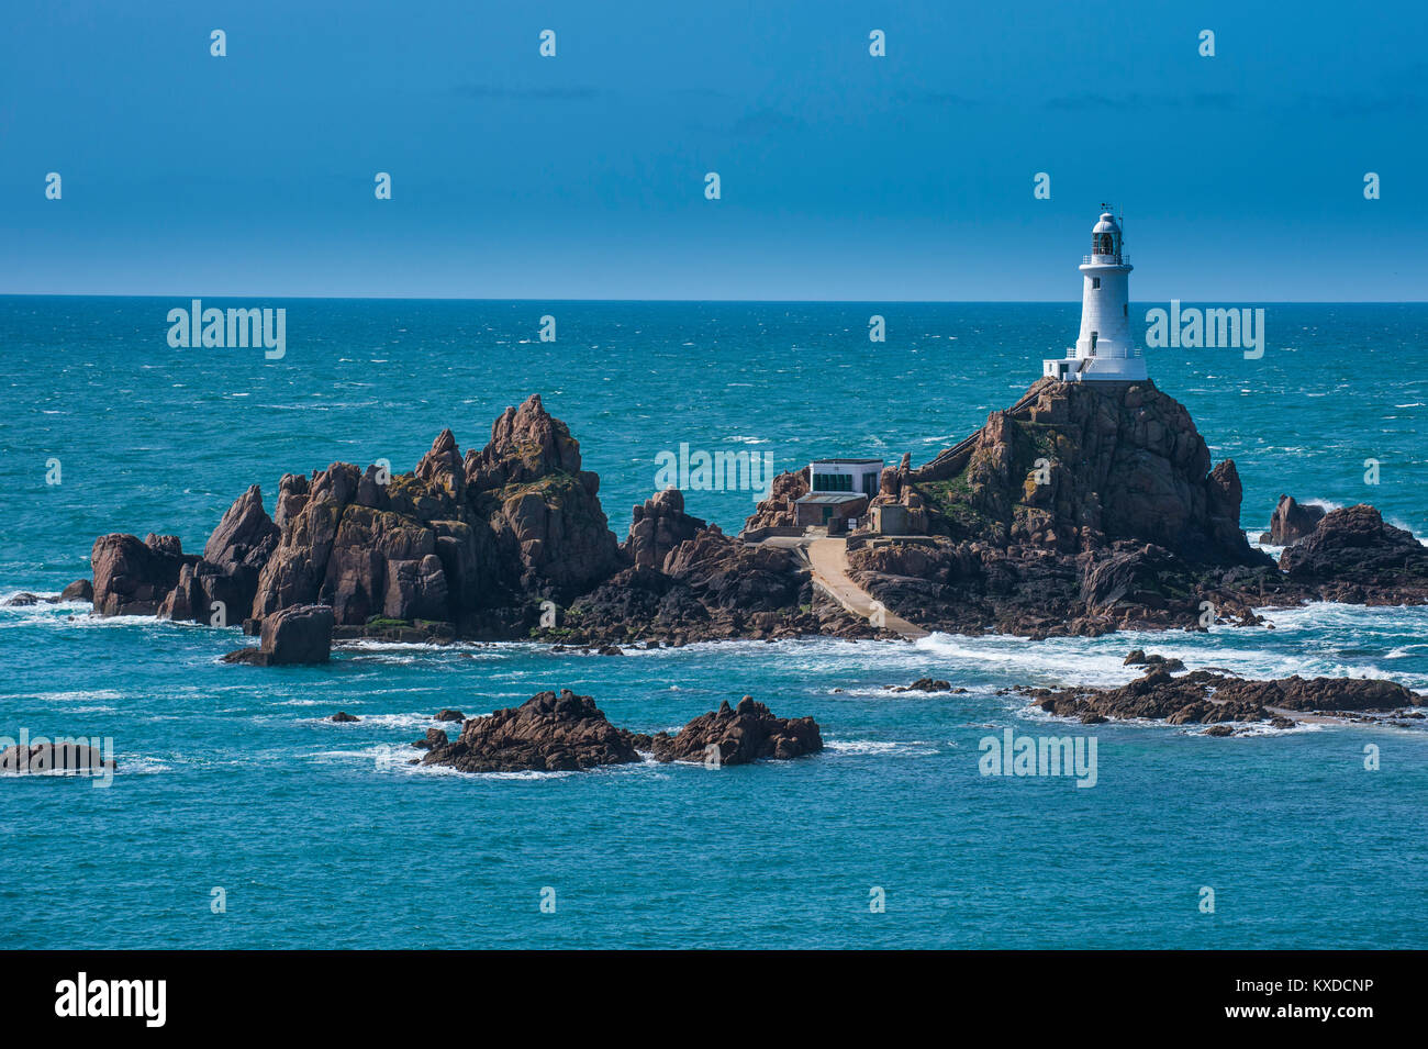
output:
[[540, 397], [507, 408], [464, 460], [444, 430], [410, 474], [346, 462], [311, 480], [290, 474], [253, 615], [321, 601], [343, 627], [450, 622], [518, 635], [541, 599], [620, 568], [597, 492], [578, 442]]

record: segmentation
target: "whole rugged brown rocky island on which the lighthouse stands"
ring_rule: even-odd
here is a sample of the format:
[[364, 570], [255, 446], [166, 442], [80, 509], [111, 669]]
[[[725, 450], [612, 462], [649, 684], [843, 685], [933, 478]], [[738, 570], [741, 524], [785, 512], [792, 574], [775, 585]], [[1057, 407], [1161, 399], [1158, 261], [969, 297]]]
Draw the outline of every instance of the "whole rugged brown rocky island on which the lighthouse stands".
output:
[[[840, 557], [848, 587], [900, 632], [811, 568], [793, 527], [807, 491], [807, 470], [778, 475], [738, 537], [663, 491], [635, 507], [620, 542], [580, 444], [533, 395], [496, 420], [480, 451], [463, 455], [444, 430], [411, 472], [334, 462], [287, 474], [273, 517], [253, 485], [201, 555], [171, 535], [103, 535], [93, 605], [241, 621], [264, 644], [234, 661], [278, 664], [326, 658], [323, 638], [308, 637], [326, 617], [304, 612], [284, 628], [286, 651], [268, 625], [317, 605], [338, 644], [534, 638], [614, 651], [934, 629], [1204, 629], [1314, 599], [1428, 602], [1428, 549], [1372, 507], [1314, 514], [1281, 500], [1271, 535], [1292, 545], [1278, 564], [1251, 547], [1234, 462], [1211, 464], [1188, 411], [1150, 380], [1042, 378], [930, 462], [884, 470], [868, 521], [900, 527], [865, 524]], [[888, 508], [897, 515], [874, 514]], [[87, 592], [83, 582], [67, 592]]]

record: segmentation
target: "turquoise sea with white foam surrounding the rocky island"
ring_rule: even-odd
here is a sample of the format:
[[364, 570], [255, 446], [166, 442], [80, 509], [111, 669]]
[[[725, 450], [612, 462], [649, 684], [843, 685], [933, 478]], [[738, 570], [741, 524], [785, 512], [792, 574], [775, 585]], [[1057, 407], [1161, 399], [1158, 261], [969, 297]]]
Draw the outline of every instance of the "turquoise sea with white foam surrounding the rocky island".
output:
[[[253, 481], [271, 510], [283, 472], [337, 458], [407, 470], [443, 427], [484, 444], [530, 392], [580, 438], [620, 535], [655, 455], [681, 442], [768, 451], [780, 470], [815, 455], [918, 462], [1010, 404], [1077, 320], [1074, 304], [241, 303], [288, 310], [287, 355], [268, 363], [170, 350], [174, 305], [187, 301], [0, 298], [0, 595], [87, 575], [107, 531], [198, 549]], [[885, 344], [867, 341], [873, 313]], [[543, 314], [553, 344], [537, 341]], [[1369, 501], [1428, 534], [1428, 307], [1285, 304], [1267, 321], [1258, 361], [1148, 355], [1215, 458], [1235, 458], [1245, 528], [1288, 491]], [[1378, 485], [1365, 458], [1381, 462]], [[687, 500], [725, 529], [754, 505], [748, 492]], [[0, 609], [0, 735], [107, 735], [120, 761], [109, 789], [0, 779], [0, 915], [43, 916], [36, 946], [1428, 946], [1428, 732], [1212, 739], [1058, 724], [997, 695], [1125, 681], [1134, 647], [1425, 689], [1424, 609], [1309, 607], [1274, 614], [1274, 631], [1210, 635], [623, 658], [367, 645], [326, 668], [221, 665], [236, 629], [84, 611]], [[970, 691], [883, 692], [922, 675]], [[751, 694], [814, 715], [828, 751], [721, 771], [406, 764], [437, 709], [560, 686], [641, 731]], [[363, 721], [323, 721], [337, 709]], [[980, 775], [978, 741], [1008, 726], [1094, 735], [1095, 786]], [[540, 911], [545, 886], [555, 913]], [[870, 912], [874, 886], [884, 913]]]

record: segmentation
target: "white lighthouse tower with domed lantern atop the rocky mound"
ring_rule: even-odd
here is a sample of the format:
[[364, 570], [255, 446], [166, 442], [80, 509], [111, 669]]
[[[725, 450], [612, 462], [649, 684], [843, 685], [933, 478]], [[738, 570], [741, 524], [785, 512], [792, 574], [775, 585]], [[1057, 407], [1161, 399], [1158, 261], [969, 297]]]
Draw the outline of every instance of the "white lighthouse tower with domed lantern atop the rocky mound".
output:
[[1091, 230], [1091, 254], [1081, 260], [1081, 334], [1065, 357], [1042, 361], [1042, 375], [1064, 382], [1135, 382], [1147, 377], [1131, 338], [1131, 257], [1121, 248], [1121, 227], [1102, 211]]

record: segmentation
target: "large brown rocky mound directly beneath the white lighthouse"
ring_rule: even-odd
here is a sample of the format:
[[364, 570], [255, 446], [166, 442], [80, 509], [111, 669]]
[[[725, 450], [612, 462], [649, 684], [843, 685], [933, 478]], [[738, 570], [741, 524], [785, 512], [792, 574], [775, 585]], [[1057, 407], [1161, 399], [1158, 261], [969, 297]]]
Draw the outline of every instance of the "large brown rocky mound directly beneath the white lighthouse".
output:
[[1014, 411], [878, 498], [930, 537], [850, 552], [853, 578], [930, 629], [1028, 637], [1252, 621], [1230, 584], [1272, 572], [1240, 531], [1234, 462], [1211, 470], [1185, 408], [1152, 382], [1041, 380]]

